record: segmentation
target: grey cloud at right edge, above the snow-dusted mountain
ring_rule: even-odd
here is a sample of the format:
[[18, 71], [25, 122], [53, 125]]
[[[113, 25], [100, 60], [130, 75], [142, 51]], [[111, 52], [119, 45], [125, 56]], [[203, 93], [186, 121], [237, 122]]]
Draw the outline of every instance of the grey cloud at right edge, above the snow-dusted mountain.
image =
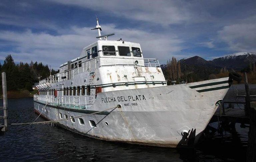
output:
[[231, 50], [237, 52], [256, 51], [256, 24], [233, 24], [224, 26], [218, 31], [218, 38], [229, 45]]

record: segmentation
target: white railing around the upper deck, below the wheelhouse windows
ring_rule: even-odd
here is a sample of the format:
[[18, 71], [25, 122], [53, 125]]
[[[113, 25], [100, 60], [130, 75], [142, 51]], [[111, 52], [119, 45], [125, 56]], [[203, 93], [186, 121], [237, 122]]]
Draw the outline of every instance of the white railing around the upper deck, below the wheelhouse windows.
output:
[[[92, 65], [94, 64], [94, 65]], [[152, 58], [117, 58], [117, 57], [97, 57], [93, 60], [77, 63], [77, 65], [70, 70], [51, 75], [48, 78], [39, 81], [39, 85], [44, 83], [55, 83], [73, 79], [74, 75], [91, 71], [91, 68], [97, 69], [103, 66], [138, 66], [138, 67], [160, 67], [158, 59]]]

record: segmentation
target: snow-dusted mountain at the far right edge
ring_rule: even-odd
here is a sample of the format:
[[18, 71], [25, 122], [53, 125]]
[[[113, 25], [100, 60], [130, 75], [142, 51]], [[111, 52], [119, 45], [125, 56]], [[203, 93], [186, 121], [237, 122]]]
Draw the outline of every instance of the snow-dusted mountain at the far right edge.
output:
[[216, 58], [211, 61], [217, 67], [227, 67], [228, 69], [241, 70], [248, 64], [256, 62], [256, 53], [238, 53], [236, 55], [227, 55]]

